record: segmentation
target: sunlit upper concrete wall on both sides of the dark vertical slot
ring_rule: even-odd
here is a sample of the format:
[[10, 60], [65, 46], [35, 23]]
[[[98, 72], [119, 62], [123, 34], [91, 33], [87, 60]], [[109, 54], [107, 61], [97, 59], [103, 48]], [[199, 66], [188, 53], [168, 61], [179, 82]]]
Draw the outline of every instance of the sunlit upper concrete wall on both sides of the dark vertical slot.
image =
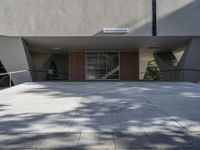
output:
[[[199, 36], [199, 0], [157, 0], [160, 36]], [[152, 35], [152, 0], [1, 0], [0, 35], [94, 36], [104, 27]]]

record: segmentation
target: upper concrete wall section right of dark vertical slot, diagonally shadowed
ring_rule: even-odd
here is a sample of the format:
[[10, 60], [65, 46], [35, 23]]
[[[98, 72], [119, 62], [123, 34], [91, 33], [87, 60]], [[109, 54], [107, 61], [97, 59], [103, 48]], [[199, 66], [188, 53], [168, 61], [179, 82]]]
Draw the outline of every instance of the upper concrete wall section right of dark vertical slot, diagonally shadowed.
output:
[[159, 36], [199, 36], [199, 0], [157, 0]]

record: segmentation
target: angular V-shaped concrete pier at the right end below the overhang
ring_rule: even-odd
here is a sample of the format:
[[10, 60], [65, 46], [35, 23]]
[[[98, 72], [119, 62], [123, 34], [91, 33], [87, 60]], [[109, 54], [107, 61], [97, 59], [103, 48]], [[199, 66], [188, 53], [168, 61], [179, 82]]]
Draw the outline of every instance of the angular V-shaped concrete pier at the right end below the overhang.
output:
[[154, 54], [160, 70], [169, 70], [161, 73], [164, 80], [189, 82], [197, 82], [200, 80], [200, 38], [192, 39], [186, 46], [177, 66], [166, 62], [166, 60], [175, 59], [172, 55], [172, 52], [158, 52]]

